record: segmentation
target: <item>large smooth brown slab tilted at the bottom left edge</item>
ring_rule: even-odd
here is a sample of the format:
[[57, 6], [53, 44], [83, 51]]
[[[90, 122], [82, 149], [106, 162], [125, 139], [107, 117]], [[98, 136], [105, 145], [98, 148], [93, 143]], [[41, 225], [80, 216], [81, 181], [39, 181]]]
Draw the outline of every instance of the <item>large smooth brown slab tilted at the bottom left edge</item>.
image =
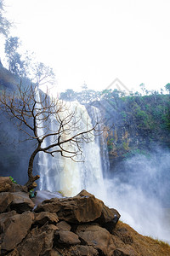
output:
[[33, 212], [17, 214], [13, 211], [1, 214], [1, 249], [4, 251], [14, 249], [26, 237], [28, 230], [31, 228], [33, 218]]

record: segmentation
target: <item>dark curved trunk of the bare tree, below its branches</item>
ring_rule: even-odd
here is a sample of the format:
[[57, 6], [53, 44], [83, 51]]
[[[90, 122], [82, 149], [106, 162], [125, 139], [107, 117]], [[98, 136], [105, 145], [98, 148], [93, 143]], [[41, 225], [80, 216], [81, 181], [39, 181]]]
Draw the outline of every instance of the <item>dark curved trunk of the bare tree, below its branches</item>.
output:
[[39, 151], [41, 151], [40, 150], [40, 145], [38, 145], [38, 147], [31, 154], [31, 157], [30, 157], [30, 160], [29, 160], [29, 165], [28, 165], [28, 181], [25, 184], [25, 186], [27, 187], [28, 191], [30, 191], [31, 189], [35, 189], [37, 187], [37, 183], [35, 181], [40, 177], [39, 175], [33, 176], [33, 174], [32, 174], [34, 159], [35, 159], [35, 156], [37, 155], [37, 153]]

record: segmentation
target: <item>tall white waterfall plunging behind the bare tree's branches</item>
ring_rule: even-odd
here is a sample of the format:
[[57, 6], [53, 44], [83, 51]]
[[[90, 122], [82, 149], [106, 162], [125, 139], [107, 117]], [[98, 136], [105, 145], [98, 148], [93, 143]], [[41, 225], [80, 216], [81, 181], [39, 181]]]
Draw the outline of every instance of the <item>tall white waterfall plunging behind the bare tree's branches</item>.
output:
[[[76, 109], [76, 115], [71, 120], [72, 125], [74, 123], [78, 124], [78, 131], [73, 129], [69, 133], [69, 137], [73, 136], [77, 132], [84, 131], [84, 127], [88, 122], [88, 129], [93, 127], [93, 122], [96, 122], [100, 118], [99, 109], [91, 108], [91, 113], [89, 109], [81, 105], [78, 102], [67, 102], [65, 103], [65, 111], [60, 113], [60, 118], [65, 119], [67, 111], [69, 113], [74, 113]], [[81, 117], [81, 118], [80, 118]], [[56, 122], [55, 115], [49, 120], [49, 130], [57, 131], [59, 126]], [[43, 126], [38, 129], [38, 135], [41, 136], [44, 134]], [[89, 192], [93, 193], [95, 188], [100, 188], [101, 191], [104, 189], [104, 180], [103, 180], [103, 171], [105, 171], [106, 166], [108, 165], [107, 155], [105, 154], [104, 149], [100, 149], [100, 144], [104, 143], [104, 138], [102, 135], [95, 136], [94, 131], [90, 132], [88, 135], [90, 137], [90, 142], [82, 142], [82, 154], [83, 161], [75, 162], [70, 158], [62, 157], [59, 153], [55, 154], [52, 157], [49, 154], [43, 152], [39, 153], [38, 165], [40, 172], [40, 181], [39, 187], [41, 190], [49, 190], [51, 192], [60, 191], [66, 196], [77, 195], [82, 189], [87, 189]], [[64, 139], [68, 137], [68, 134], [65, 134]], [[54, 140], [53, 137], [48, 139], [42, 145], [46, 147], [49, 143], [52, 143]], [[65, 149], [70, 145], [66, 145]], [[102, 158], [102, 160], [101, 160]], [[102, 164], [102, 162], [104, 164]]]

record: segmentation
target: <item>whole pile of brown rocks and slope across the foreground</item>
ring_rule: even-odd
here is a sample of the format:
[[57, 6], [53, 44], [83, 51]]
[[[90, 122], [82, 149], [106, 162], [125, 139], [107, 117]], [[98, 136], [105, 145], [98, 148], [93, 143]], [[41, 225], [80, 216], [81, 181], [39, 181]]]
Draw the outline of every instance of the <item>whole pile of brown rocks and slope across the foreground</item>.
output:
[[0, 177], [0, 255], [170, 255], [170, 247], [118, 221], [119, 212], [82, 190], [37, 207], [26, 188]]

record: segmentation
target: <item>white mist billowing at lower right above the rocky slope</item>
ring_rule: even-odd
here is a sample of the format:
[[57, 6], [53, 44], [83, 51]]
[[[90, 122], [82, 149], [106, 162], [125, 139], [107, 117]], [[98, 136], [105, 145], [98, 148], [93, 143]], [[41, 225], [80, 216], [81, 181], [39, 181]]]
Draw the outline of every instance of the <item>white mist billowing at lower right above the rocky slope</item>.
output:
[[[170, 151], [156, 148], [119, 163], [94, 195], [114, 207], [121, 220], [144, 236], [170, 243]], [[103, 191], [102, 191], [103, 190]]]

